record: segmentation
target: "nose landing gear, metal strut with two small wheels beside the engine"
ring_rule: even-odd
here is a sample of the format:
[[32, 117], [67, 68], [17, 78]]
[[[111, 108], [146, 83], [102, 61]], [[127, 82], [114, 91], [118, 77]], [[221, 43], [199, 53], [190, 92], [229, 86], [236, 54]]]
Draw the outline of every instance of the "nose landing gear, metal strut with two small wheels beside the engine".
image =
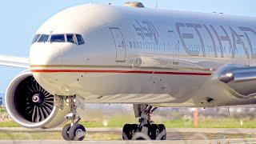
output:
[[70, 113], [66, 114], [66, 119], [70, 121], [70, 124], [62, 128], [62, 138], [67, 141], [82, 141], [86, 136], [86, 129], [78, 124], [81, 118], [76, 112], [75, 96], [67, 97], [66, 102], [70, 106]]

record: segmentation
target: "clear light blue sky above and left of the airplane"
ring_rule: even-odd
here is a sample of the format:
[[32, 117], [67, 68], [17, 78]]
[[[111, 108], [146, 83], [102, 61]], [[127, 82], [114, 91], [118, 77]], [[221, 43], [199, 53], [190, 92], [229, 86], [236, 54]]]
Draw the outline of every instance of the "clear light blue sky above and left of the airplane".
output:
[[[50, 16], [70, 6], [92, 3], [122, 5], [123, 0], [2, 0], [0, 54], [28, 57], [35, 31]], [[142, 0], [146, 7], [198, 12], [222, 12], [256, 17], [255, 0]], [[255, 23], [256, 25], [256, 23]], [[0, 93], [22, 69], [0, 66]]]

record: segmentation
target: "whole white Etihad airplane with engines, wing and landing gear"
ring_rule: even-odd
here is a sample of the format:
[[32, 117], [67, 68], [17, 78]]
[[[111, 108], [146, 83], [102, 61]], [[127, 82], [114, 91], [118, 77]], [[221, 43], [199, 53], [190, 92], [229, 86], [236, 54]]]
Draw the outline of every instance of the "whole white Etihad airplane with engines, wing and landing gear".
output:
[[18, 124], [52, 128], [82, 140], [77, 108], [85, 103], [134, 104], [138, 124], [123, 139], [166, 139], [150, 115], [157, 107], [256, 103], [256, 18], [86, 4], [54, 15], [36, 32], [30, 58], [1, 57], [27, 68], [6, 90]]

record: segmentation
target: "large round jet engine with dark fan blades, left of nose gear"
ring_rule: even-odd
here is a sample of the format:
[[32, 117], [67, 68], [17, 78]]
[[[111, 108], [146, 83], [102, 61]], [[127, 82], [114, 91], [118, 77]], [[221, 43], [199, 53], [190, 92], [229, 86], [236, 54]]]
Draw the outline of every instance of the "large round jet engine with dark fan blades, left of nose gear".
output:
[[6, 90], [6, 110], [10, 117], [27, 128], [52, 128], [65, 122], [70, 111], [54, 106], [54, 95], [38, 84], [30, 70], [18, 74]]

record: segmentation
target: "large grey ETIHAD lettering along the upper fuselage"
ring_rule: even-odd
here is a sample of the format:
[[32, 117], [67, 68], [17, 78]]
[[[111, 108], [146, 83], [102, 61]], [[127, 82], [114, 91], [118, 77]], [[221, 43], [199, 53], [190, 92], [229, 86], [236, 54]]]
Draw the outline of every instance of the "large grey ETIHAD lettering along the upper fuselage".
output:
[[[238, 26], [238, 28], [234, 29], [231, 26], [228, 26], [228, 28], [225, 28], [224, 26], [219, 26], [218, 29], [220, 30], [216, 30], [216, 27], [212, 25], [206, 26], [205, 24], [182, 23], [182, 22], [176, 22], [175, 26], [178, 31], [179, 38], [181, 39], [182, 46], [186, 50], [186, 53], [189, 55], [199, 56], [200, 51], [198, 50], [192, 51], [189, 49], [188, 46], [186, 46], [185, 40], [193, 39], [195, 38], [195, 36], [192, 33], [182, 33], [182, 30], [194, 29], [195, 33], [198, 35], [199, 41], [201, 42], [203, 57], [206, 57], [206, 46], [202, 38], [202, 34], [201, 34], [202, 30], [206, 31], [205, 33], [208, 34], [211, 39], [211, 42], [213, 44], [212, 46], [214, 48], [215, 57], [218, 57], [217, 46], [220, 49], [221, 57], [222, 58], [224, 57], [223, 42], [228, 42], [228, 45], [230, 47], [230, 53], [232, 54], [232, 58], [235, 57], [235, 51], [238, 45], [241, 45], [243, 47], [247, 58], [250, 58], [250, 55], [251, 55], [251, 58], [256, 58], [256, 53], [255, 53], [255, 50], [253, 49], [252, 40], [251, 40], [252, 38], [250, 36], [251, 34], [254, 34], [254, 36], [256, 36], [256, 32], [250, 27]], [[220, 31], [222, 31], [222, 34], [219, 34]], [[244, 35], [239, 35], [238, 32], [243, 33]], [[242, 39], [242, 37], [245, 37], [245, 38]], [[217, 39], [218, 44], [215, 41], [215, 39]], [[246, 46], [246, 43], [248, 43], [249, 47]], [[248, 49], [250, 49], [250, 52]]]

